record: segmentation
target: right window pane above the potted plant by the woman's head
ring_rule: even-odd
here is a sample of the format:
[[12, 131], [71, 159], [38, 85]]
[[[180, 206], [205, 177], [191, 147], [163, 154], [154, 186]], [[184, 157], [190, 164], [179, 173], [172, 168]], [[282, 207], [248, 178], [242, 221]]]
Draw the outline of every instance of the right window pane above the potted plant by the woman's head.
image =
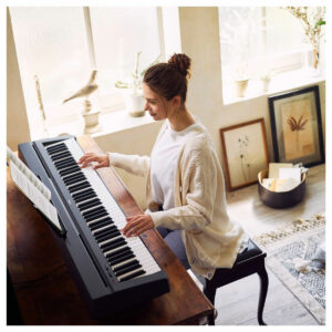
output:
[[135, 54], [139, 72], [160, 52], [156, 8], [90, 8], [100, 93], [115, 92], [117, 80], [129, 80]]

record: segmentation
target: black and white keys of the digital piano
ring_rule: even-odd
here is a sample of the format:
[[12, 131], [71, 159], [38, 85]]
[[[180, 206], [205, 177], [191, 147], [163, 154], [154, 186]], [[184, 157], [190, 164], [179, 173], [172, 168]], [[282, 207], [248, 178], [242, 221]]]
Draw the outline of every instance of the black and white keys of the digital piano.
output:
[[46, 152], [117, 280], [160, 271], [139, 237], [122, 235], [125, 216], [97, 173], [77, 165], [83, 155], [77, 142], [51, 144]]

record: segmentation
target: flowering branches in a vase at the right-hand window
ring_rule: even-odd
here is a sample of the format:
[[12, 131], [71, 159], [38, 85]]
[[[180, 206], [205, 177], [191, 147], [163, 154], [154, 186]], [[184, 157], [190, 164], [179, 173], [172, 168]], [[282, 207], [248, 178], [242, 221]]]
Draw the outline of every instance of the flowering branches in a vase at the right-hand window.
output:
[[287, 7], [292, 15], [298, 18], [304, 29], [305, 37], [312, 49], [312, 68], [318, 69], [319, 65], [319, 45], [322, 32], [322, 25], [325, 22], [324, 7]]

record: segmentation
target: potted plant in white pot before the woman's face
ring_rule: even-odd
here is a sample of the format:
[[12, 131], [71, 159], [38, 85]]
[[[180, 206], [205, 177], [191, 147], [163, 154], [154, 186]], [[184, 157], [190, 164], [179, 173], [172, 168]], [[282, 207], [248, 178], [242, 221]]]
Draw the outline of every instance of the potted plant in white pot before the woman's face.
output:
[[[124, 94], [126, 111], [131, 116], [143, 116], [144, 112], [144, 98], [142, 92], [142, 81], [143, 76], [146, 72], [146, 69], [143, 70], [141, 73], [138, 72], [139, 65], [139, 56], [141, 51], [135, 55], [135, 65], [134, 72], [131, 75], [129, 82], [117, 81], [115, 82], [115, 87], [117, 89], [126, 89], [126, 93]], [[160, 55], [151, 64], [154, 65], [159, 62]], [[149, 65], [149, 66], [151, 66]]]

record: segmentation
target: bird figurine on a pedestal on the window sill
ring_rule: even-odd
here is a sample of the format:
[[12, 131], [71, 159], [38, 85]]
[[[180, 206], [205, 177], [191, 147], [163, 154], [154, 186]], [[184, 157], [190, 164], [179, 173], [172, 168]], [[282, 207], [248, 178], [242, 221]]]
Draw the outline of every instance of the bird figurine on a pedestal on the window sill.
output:
[[63, 101], [63, 104], [79, 97], [85, 97], [84, 101], [84, 111], [82, 112], [83, 118], [84, 118], [84, 134], [93, 134], [95, 132], [101, 131], [102, 126], [100, 125], [100, 111], [91, 111], [92, 104], [89, 100], [90, 95], [95, 92], [98, 87], [98, 85], [95, 83], [96, 77], [96, 70], [93, 70], [90, 76], [90, 80], [86, 85], [84, 85], [82, 89], [80, 89], [76, 93], [74, 93], [72, 96]]

